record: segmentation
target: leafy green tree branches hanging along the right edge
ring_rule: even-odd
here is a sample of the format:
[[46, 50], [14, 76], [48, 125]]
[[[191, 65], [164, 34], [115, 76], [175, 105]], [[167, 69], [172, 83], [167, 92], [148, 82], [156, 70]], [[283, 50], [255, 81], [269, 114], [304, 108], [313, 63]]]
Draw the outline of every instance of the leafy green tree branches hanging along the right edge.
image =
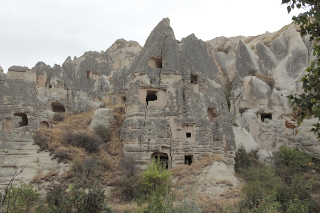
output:
[[[314, 41], [313, 55], [315, 59], [310, 67], [306, 69], [301, 94], [291, 94], [288, 98], [295, 111], [294, 120], [300, 126], [306, 117], [314, 115], [320, 120], [320, 3], [316, 0], [282, 0], [282, 4], [288, 4], [288, 13], [294, 8], [303, 8], [306, 12], [293, 16], [292, 20], [300, 25], [301, 36], [310, 36], [310, 41]], [[297, 127], [298, 127], [297, 126]], [[295, 128], [292, 126], [292, 128]], [[317, 134], [320, 140], [320, 124], [313, 125], [310, 131]]]

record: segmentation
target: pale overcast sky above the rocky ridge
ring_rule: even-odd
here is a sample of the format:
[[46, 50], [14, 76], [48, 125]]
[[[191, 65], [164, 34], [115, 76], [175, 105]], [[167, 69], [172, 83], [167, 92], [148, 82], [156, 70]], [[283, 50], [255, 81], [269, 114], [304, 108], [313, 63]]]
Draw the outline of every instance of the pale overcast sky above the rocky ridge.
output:
[[256, 36], [291, 22], [281, 0], [0, 0], [0, 66], [62, 65], [117, 39], [144, 45], [163, 18], [177, 40]]

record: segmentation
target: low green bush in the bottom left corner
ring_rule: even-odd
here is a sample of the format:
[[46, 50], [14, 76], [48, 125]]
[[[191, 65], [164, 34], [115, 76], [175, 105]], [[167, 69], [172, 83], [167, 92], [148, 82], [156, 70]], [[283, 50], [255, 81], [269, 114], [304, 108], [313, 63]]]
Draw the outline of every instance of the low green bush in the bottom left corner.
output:
[[10, 192], [7, 192], [6, 199], [2, 211], [6, 213], [29, 212], [39, 197], [37, 190], [34, 190], [33, 185], [20, 182], [17, 187], [12, 187]]

